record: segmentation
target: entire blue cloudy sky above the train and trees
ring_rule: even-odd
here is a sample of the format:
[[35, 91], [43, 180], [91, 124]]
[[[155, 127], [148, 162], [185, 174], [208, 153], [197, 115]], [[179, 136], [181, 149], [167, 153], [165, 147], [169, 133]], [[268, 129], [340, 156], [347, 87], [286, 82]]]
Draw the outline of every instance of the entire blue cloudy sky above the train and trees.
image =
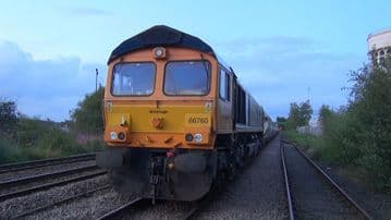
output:
[[[106, 84], [122, 40], [166, 24], [208, 42], [273, 117], [308, 97], [345, 105], [367, 36], [391, 27], [391, 1], [0, 1], [0, 97], [30, 117], [69, 119]], [[187, 3], [186, 3], [187, 2]]]

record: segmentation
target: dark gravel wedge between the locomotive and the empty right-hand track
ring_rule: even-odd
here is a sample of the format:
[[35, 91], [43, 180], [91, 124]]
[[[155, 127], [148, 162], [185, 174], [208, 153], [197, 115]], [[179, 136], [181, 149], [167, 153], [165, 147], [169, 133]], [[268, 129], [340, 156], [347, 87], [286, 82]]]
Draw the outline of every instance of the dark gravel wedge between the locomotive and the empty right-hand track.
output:
[[285, 219], [288, 208], [280, 164], [280, 136], [229, 184], [199, 219]]

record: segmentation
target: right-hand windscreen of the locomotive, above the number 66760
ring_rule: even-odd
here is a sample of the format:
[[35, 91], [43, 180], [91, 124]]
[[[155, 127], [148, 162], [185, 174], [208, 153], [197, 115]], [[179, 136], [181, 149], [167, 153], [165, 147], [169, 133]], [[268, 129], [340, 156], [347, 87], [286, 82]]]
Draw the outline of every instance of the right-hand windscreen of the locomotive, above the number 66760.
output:
[[164, 94], [170, 96], [206, 95], [209, 93], [208, 61], [174, 61], [166, 65]]

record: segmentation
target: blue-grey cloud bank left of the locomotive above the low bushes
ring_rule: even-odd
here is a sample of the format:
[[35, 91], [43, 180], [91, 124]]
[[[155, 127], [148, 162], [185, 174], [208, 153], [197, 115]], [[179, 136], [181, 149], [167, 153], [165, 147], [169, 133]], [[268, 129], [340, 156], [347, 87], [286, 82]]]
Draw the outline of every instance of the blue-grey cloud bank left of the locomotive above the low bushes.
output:
[[83, 63], [77, 57], [35, 60], [15, 42], [0, 41], [0, 97], [15, 100], [27, 115], [62, 121], [95, 90], [95, 68], [105, 83], [106, 65]]

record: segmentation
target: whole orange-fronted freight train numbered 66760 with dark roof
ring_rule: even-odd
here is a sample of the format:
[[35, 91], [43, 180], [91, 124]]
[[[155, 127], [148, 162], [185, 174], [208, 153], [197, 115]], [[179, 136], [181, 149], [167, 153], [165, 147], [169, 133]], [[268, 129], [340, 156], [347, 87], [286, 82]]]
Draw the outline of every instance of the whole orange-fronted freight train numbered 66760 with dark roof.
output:
[[[97, 156], [122, 195], [197, 200], [270, 139], [270, 118], [201, 39], [158, 25], [108, 60]], [[266, 122], [267, 121], [267, 122]]]

